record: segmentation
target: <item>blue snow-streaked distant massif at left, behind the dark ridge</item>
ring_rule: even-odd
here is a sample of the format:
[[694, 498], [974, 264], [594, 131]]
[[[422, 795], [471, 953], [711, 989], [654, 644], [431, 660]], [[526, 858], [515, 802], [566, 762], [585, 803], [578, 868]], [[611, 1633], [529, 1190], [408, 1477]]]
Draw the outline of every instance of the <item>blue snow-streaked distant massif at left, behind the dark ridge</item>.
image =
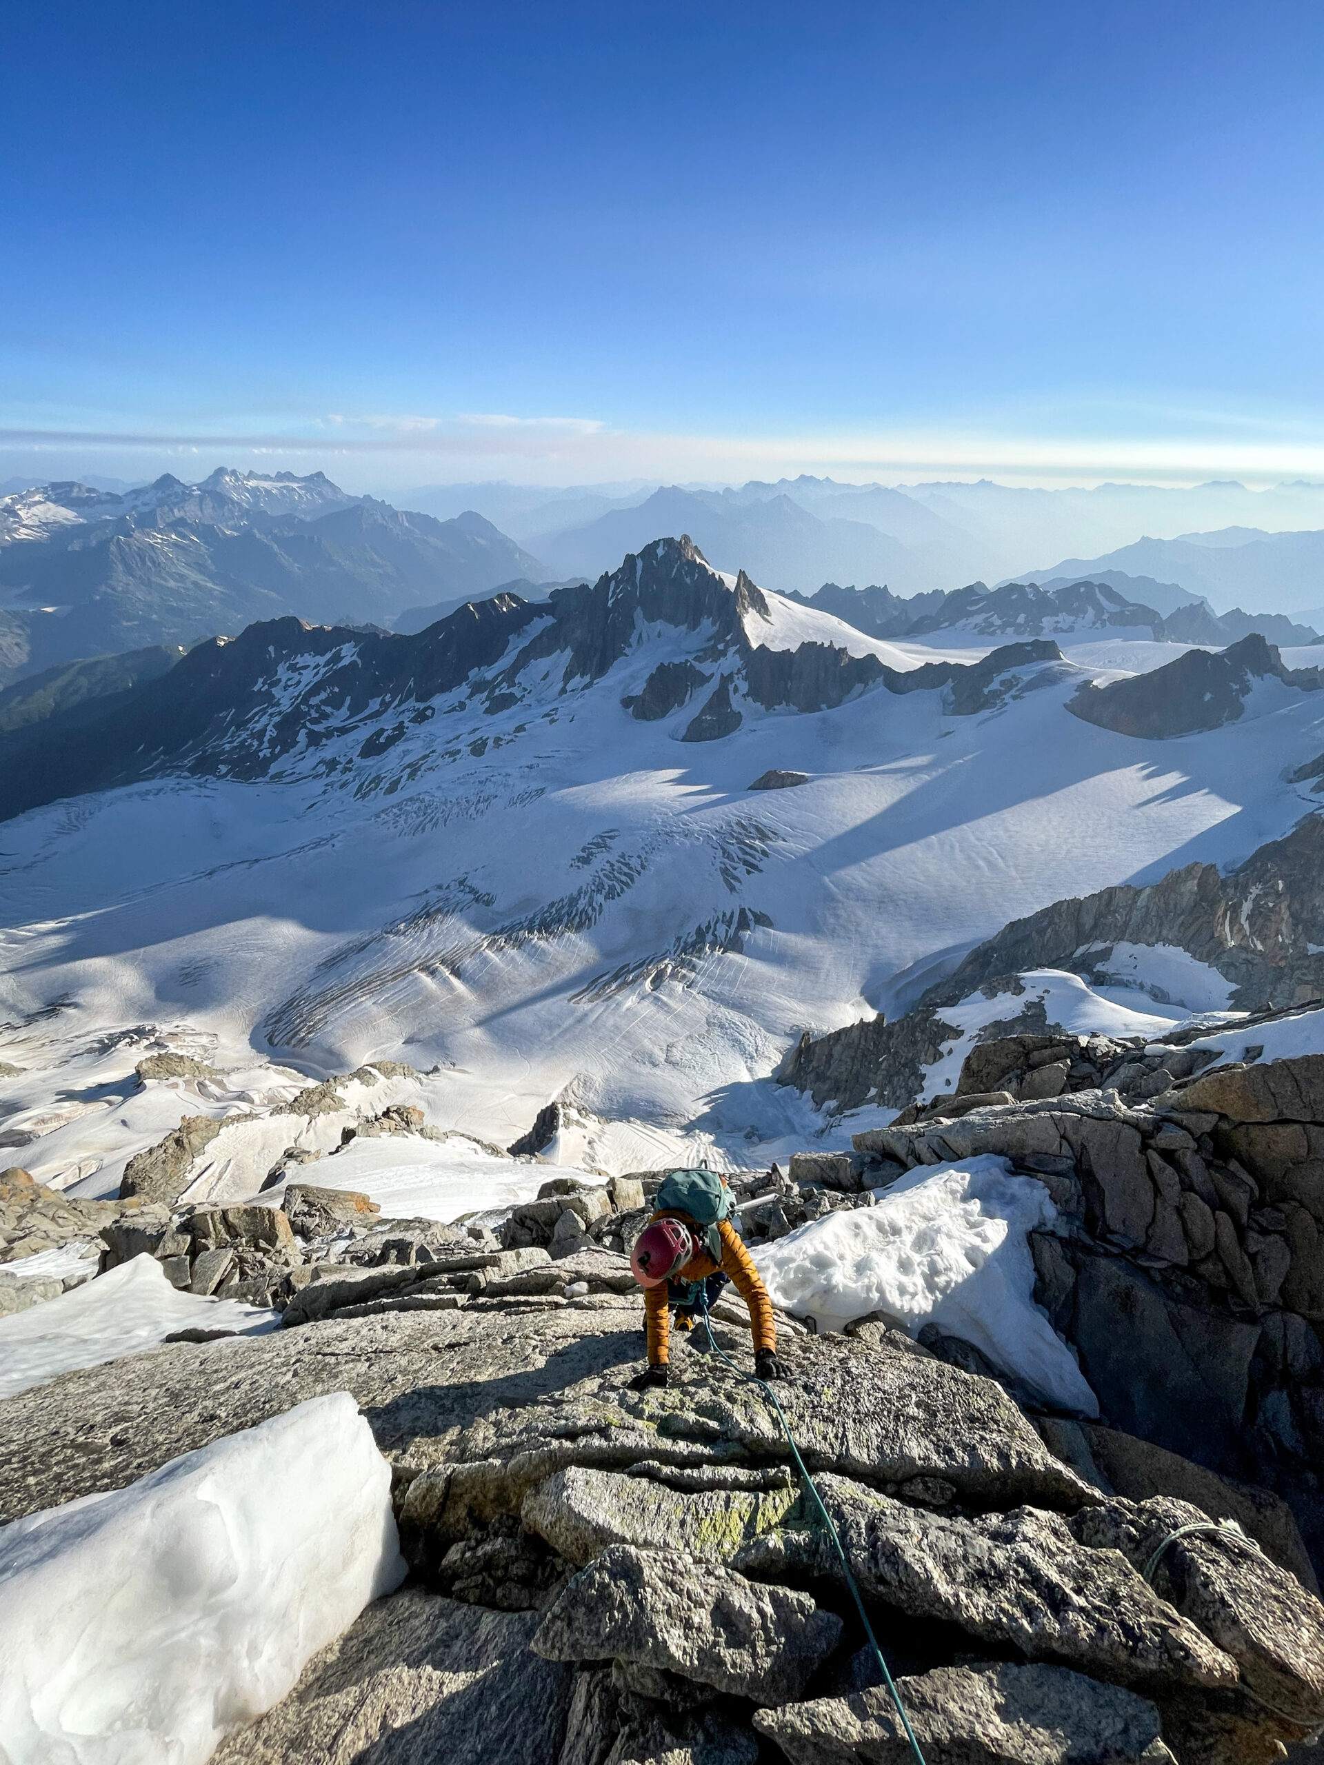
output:
[[0, 499], [0, 685], [286, 614], [388, 625], [549, 574], [478, 514], [401, 512], [323, 473], [41, 485]]

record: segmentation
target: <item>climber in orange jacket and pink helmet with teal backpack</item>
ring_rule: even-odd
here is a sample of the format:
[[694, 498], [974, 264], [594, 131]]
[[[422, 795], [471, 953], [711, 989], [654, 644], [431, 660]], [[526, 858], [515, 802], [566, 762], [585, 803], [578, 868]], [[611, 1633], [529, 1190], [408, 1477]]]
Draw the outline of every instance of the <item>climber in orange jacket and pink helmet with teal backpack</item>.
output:
[[749, 1306], [754, 1368], [759, 1378], [780, 1378], [777, 1326], [759, 1271], [731, 1225], [731, 1190], [715, 1170], [673, 1170], [655, 1197], [655, 1213], [630, 1251], [634, 1278], [644, 1290], [648, 1370], [632, 1391], [667, 1384], [671, 1310], [681, 1329], [708, 1311], [727, 1280]]

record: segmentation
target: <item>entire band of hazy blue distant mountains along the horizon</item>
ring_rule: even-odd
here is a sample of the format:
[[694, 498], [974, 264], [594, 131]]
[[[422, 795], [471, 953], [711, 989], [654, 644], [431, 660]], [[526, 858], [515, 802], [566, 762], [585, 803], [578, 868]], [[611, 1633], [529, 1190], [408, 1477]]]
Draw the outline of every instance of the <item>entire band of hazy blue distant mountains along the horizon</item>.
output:
[[[199, 484], [168, 473], [150, 485], [62, 482], [0, 496], [0, 687], [290, 614], [418, 632], [498, 590], [535, 598], [535, 588], [597, 581], [664, 533], [688, 533], [717, 568], [743, 568], [796, 598], [824, 582], [872, 584], [860, 590], [872, 597], [869, 607], [854, 614], [870, 632], [920, 635], [923, 620], [943, 621], [932, 630], [974, 620], [980, 635], [1029, 632], [1038, 620], [1045, 630], [1072, 630], [1079, 616], [1087, 628], [1130, 621], [1185, 642], [1225, 644], [1257, 630], [1290, 646], [1306, 641], [1306, 621], [1275, 621], [1271, 609], [1324, 602], [1319, 485], [1022, 491], [982, 482], [902, 491], [800, 477], [727, 489], [455, 485], [417, 494], [433, 514], [351, 496], [323, 473], [219, 468]], [[1162, 531], [1179, 517], [1225, 510], [1260, 522], [1315, 519], [1320, 530], [1237, 524], [1132, 538], [1144, 522]], [[1130, 544], [1077, 556], [1086, 540], [1119, 533]], [[1003, 577], [1004, 586], [1038, 584], [1052, 595], [1091, 582], [1119, 598], [1068, 595], [1040, 605], [1022, 593], [1008, 609], [985, 604], [983, 581], [1033, 556], [1031, 545], [1040, 556], [1052, 545], [1072, 556]], [[953, 593], [966, 598], [943, 602]], [[1192, 602], [1204, 611], [1177, 616]]]

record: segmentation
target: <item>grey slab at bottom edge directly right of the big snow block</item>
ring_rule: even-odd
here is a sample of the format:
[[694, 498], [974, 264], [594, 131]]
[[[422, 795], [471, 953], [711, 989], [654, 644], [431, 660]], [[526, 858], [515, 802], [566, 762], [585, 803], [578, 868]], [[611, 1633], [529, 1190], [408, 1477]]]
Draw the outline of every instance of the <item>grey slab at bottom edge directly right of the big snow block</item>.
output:
[[574, 1675], [530, 1654], [537, 1622], [418, 1588], [381, 1599], [214, 1765], [558, 1765]]

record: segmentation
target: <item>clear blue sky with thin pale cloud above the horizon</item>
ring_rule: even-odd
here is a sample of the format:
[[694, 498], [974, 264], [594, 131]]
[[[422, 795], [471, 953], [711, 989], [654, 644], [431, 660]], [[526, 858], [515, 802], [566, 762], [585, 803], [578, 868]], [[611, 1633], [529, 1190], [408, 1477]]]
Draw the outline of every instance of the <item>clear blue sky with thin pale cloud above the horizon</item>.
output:
[[1324, 477], [1324, 12], [5, 19], [0, 477]]

